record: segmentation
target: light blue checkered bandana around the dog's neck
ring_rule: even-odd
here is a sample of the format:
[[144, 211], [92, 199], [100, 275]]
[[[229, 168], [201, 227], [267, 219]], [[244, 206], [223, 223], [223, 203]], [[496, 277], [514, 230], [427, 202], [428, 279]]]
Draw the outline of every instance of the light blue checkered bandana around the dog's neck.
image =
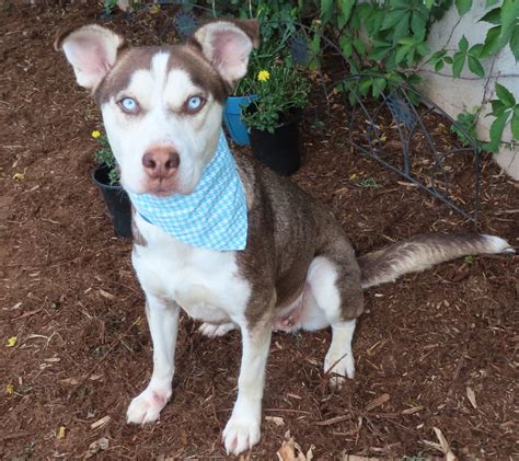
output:
[[209, 250], [245, 247], [245, 192], [223, 131], [214, 158], [192, 194], [155, 197], [128, 192], [128, 195], [147, 221], [174, 239]]

